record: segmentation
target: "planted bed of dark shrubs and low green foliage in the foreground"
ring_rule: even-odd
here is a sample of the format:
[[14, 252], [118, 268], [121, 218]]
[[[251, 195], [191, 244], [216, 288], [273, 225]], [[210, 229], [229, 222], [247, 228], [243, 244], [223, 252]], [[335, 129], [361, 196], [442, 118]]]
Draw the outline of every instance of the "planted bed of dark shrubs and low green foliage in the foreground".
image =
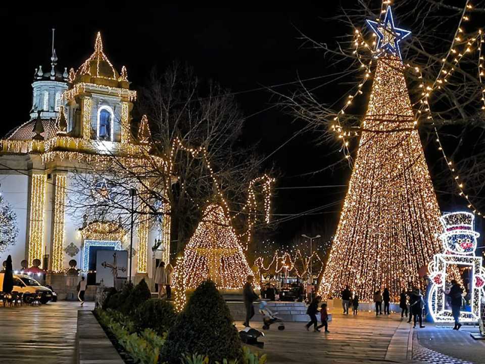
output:
[[125, 362], [140, 364], [264, 364], [266, 355], [243, 347], [224, 299], [203, 282], [176, 314], [150, 298], [144, 281], [112, 291], [95, 315]]

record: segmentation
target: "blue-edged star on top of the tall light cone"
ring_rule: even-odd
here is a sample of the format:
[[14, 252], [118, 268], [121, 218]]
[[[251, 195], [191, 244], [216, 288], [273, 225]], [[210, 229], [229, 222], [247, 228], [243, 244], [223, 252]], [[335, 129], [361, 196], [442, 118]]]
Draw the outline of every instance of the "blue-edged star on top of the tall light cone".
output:
[[382, 52], [387, 52], [399, 57], [399, 59], [402, 61], [403, 59], [401, 57], [399, 42], [411, 35], [411, 31], [396, 28], [394, 26], [393, 11], [391, 6], [387, 7], [383, 23], [367, 20], [367, 24], [369, 24], [378, 37], [377, 47], [375, 49], [378, 52], [377, 55], [380, 55]]

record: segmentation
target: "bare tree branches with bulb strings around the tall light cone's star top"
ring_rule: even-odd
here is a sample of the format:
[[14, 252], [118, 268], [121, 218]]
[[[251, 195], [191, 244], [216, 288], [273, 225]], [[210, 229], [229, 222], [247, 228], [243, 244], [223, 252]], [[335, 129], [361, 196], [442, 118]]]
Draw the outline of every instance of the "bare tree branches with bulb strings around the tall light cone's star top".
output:
[[[359, 135], [366, 101], [358, 97], [358, 84], [366, 79], [366, 73], [371, 74], [369, 71], [372, 68], [368, 69], [368, 65], [371, 64], [375, 48], [366, 20], [375, 20], [385, 12], [387, 2], [382, 3], [376, 0], [344, 1], [337, 15], [324, 19], [326, 26], [333, 24], [347, 30], [331, 42], [321, 42], [315, 36], [308, 35], [304, 28], [298, 29], [302, 47], [323, 52], [327, 61], [326, 69], [332, 70], [333, 67], [328, 75], [333, 79], [324, 88], [342, 90], [342, 95], [329, 102], [328, 93], [323, 95], [321, 92], [323, 85], [315, 81], [300, 81], [292, 94], [275, 93], [283, 110], [313, 126], [319, 143], [343, 148], [331, 125], [348, 102], [346, 98], [349, 94], [356, 97], [352, 106], [338, 119], [345, 131]], [[479, 68], [479, 57], [482, 57], [483, 65], [485, 54], [485, 43], [480, 43], [484, 38], [479, 32], [485, 25], [485, 2], [401, 0], [395, 2], [393, 11], [397, 26], [412, 30], [412, 38], [401, 42], [401, 47], [404, 63], [408, 65], [406, 78], [413, 108], [417, 116], [424, 115], [419, 117], [422, 138], [432, 145], [437, 139], [435, 132], [439, 133], [443, 149], [454, 161], [460, 178], [470, 191], [470, 199], [476, 206], [485, 208], [482, 194], [485, 188], [485, 78], [483, 68]], [[480, 72], [481, 80], [478, 76]], [[362, 87], [364, 95], [370, 83], [366, 82]], [[432, 118], [427, 117], [420, 101], [423, 98], [423, 88], [419, 87], [421, 84], [424, 84], [424, 93], [429, 94]], [[418, 110], [422, 113], [419, 114]], [[354, 142], [348, 148], [356, 146]], [[342, 158], [342, 161], [346, 159]], [[455, 192], [457, 187], [450, 178], [447, 162], [442, 158], [434, 168], [442, 171], [438, 173], [438, 187], [451, 187]]]

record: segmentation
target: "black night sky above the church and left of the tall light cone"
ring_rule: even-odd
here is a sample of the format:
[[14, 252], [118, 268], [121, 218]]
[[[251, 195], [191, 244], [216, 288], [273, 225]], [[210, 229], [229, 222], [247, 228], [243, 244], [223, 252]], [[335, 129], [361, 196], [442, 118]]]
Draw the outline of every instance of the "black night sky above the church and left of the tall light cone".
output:
[[[262, 155], [269, 155], [305, 123], [294, 122], [275, 107], [275, 97], [267, 90], [253, 89], [294, 82], [297, 76], [306, 79], [338, 71], [324, 59], [322, 51], [303, 48], [302, 40], [298, 39], [297, 28], [321, 42], [332, 42], [335, 36], [352, 31], [322, 19], [333, 15], [340, 6], [338, 2], [328, 3], [321, 2], [320, 8], [298, 6], [298, 12], [175, 6], [141, 10], [132, 3], [126, 10], [117, 5], [107, 10], [96, 7], [89, 11], [3, 12], [4, 95], [0, 132], [4, 135], [28, 119], [34, 69], [42, 64], [44, 71], [50, 70], [51, 28], [56, 28], [58, 67], [68, 70], [77, 69], [92, 53], [95, 33], [101, 31], [105, 53], [117, 70], [122, 65], [127, 67], [132, 89], [147, 81], [154, 66], [164, 70], [178, 60], [193, 66], [200, 78], [213, 79], [237, 93], [236, 100], [248, 116], [241, 136], [243, 143], [257, 144]], [[47, 8], [49, 5], [45, 4], [43, 9]], [[319, 88], [317, 95], [332, 103], [345, 96], [348, 88], [348, 84], [333, 84]], [[290, 93], [295, 85], [276, 89]], [[351, 171], [346, 163], [314, 176], [299, 176], [342, 158], [335, 145], [317, 145], [317, 136], [300, 134], [268, 158], [267, 167], [274, 164], [281, 174], [276, 188], [347, 184]], [[318, 214], [285, 222], [274, 238], [280, 242], [291, 240], [312, 224], [322, 228], [327, 225], [325, 230], [334, 230], [345, 191], [345, 187], [276, 189], [275, 219], [283, 217], [278, 214], [296, 214], [332, 202], [337, 204], [319, 210]]]

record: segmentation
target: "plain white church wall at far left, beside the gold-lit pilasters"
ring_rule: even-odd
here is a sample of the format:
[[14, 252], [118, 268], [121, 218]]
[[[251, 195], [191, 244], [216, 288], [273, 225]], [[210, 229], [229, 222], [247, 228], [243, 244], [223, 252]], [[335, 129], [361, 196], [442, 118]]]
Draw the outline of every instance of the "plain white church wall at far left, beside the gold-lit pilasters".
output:
[[24, 174], [1, 174], [0, 191], [5, 201], [17, 214], [19, 236], [14, 245], [10, 245], [5, 252], [0, 253], [3, 262], [10, 254], [14, 269], [20, 269], [20, 262], [26, 258], [27, 236], [27, 204], [28, 204], [28, 176]]

